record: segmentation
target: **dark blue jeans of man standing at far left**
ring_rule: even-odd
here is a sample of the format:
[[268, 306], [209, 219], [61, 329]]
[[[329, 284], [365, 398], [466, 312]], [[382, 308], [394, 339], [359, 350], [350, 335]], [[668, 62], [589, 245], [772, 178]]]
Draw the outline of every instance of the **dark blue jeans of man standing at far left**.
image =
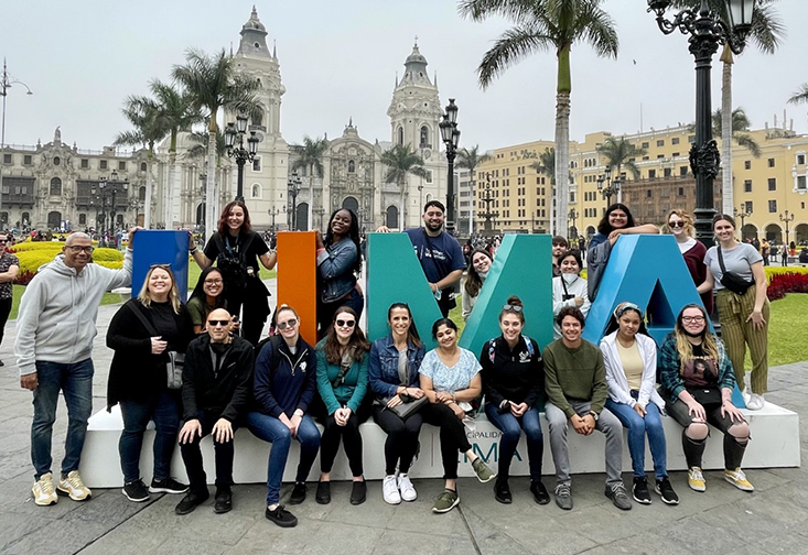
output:
[[31, 460], [35, 479], [51, 471], [51, 437], [56, 421], [58, 392], [67, 405], [67, 436], [62, 474], [78, 469], [93, 412], [93, 359], [74, 363], [36, 361], [39, 387], [34, 390], [34, 418], [31, 423]]

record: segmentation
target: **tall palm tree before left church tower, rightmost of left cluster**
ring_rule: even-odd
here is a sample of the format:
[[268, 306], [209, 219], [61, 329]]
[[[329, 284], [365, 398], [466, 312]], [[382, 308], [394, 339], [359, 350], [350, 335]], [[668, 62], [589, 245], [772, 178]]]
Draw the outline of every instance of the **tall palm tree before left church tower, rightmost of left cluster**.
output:
[[[224, 48], [213, 55], [188, 50], [185, 53], [185, 65], [174, 66], [173, 76], [193, 99], [194, 108], [204, 111], [207, 117], [207, 166], [216, 167], [216, 119], [219, 111], [243, 111], [255, 118], [259, 117], [261, 108], [258, 102], [258, 81], [239, 74], [234, 58]], [[205, 235], [211, 237], [215, 230], [212, 224], [216, 221], [218, 208], [216, 172], [208, 173], [206, 196]]]

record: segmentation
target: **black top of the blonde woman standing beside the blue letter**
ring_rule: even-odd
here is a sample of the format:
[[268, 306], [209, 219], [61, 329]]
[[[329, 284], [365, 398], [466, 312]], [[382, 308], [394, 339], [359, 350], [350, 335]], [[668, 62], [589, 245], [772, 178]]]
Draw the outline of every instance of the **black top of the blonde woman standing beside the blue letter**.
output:
[[[120, 401], [147, 401], [151, 395], [166, 389], [165, 362], [169, 356], [151, 353], [151, 333], [132, 311], [140, 311], [154, 325], [153, 311], [144, 307], [137, 298], [130, 298], [112, 316], [107, 329], [107, 347], [115, 351], [109, 367], [107, 382], [107, 410]], [[168, 350], [185, 352], [194, 337], [185, 305], [180, 314], [173, 314], [179, 331]]]

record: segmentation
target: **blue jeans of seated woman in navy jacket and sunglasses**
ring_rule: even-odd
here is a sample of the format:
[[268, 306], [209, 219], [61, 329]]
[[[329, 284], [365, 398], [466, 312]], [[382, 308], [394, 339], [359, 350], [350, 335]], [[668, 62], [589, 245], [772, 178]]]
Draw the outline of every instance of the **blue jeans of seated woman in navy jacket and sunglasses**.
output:
[[[247, 414], [247, 427], [259, 439], [272, 444], [267, 463], [267, 507], [273, 505], [280, 501], [281, 481], [292, 445], [292, 434], [280, 420], [259, 412]], [[295, 481], [303, 482], [309, 477], [320, 449], [320, 429], [308, 414], [300, 421], [297, 439], [300, 442], [300, 463]]]

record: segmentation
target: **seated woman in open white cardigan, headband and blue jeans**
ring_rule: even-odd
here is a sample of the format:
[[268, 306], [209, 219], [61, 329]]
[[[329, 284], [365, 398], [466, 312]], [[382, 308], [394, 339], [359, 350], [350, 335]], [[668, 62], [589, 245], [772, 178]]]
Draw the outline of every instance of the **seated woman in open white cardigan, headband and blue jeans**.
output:
[[632, 455], [634, 486], [632, 493], [638, 503], [650, 504], [648, 479], [645, 476], [645, 436], [654, 457], [655, 490], [662, 502], [678, 504], [667, 470], [665, 431], [660, 415], [665, 402], [655, 388], [657, 346], [648, 337], [643, 312], [634, 303], [621, 303], [601, 340], [606, 367], [608, 409], [628, 431], [628, 453]]

